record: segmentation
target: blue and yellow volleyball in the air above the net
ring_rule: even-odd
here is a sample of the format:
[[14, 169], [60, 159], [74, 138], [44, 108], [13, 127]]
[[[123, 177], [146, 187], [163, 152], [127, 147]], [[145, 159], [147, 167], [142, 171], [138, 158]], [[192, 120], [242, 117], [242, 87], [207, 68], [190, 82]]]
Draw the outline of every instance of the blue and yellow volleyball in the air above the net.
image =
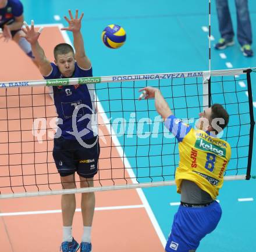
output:
[[116, 49], [125, 44], [125, 29], [117, 24], [109, 24], [101, 34], [103, 43], [109, 48]]

